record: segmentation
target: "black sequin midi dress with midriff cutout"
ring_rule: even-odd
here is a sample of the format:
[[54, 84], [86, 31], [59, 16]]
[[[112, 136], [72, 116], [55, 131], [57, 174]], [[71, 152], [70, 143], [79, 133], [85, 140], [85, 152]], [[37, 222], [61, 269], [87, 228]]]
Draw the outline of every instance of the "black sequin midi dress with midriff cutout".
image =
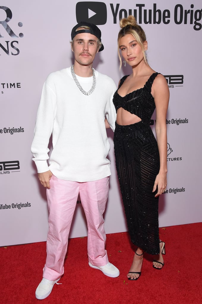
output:
[[[152, 190], [160, 161], [150, 127], [155, 110], [151, 88], [158, 74], [153, 73], [143, 88], [124, 97], [117, 90], [113, 96], [116, 111], [123, 108], [141, 118], [140, 122], [127, 126], [116, 123], [114, 151], [131, 241], [148, 254], [159, 254], [158, 197], [155, 198], [157, 191]], [[127, 76], [121, 79], [119, 88]]]

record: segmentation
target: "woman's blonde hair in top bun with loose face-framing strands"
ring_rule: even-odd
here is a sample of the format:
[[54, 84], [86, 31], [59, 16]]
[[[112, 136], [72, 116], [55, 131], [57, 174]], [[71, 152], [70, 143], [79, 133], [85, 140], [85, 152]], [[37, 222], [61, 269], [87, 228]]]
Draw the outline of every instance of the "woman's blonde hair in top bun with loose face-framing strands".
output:
[[147, 62], [146, 55], [145, 55], [145, 48], [144, 48], [144, 42], [146, 41], [146, 35], [141, 26], [138, 25], [136, 19], [134, 16], [129, 15], [127, 18], [123, 18], [120, 20], [120, 31], [118, 34], [118, 55], [120, 60], [120, 67], [122, 65], [121, 55], [120, 55], [120, 40], [122, 37], [124, 37], [127, 34], [131, 34], [137, 43], [141, 46], [142, 53], [144, 56], [145, 62]]

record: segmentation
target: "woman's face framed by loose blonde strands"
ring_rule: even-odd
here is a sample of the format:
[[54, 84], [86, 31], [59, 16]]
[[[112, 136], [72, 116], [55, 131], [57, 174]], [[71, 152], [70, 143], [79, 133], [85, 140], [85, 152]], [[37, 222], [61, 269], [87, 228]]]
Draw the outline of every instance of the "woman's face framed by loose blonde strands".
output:
[[[147, 41], [143, 43], [145, 50], [147, 50]], [[121, 55], [130, 66], [138, 65], [144, 56], [141, 46], [131, 34], [126, 34], [120, 39], [119, 47]]]

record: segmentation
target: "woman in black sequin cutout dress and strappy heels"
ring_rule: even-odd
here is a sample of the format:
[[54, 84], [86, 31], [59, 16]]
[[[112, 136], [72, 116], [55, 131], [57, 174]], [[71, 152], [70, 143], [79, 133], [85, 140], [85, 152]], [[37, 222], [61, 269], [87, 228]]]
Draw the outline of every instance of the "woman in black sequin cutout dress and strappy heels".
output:
[[[162, 269], [165, 243], [159, 240], [158, 197], [166, 189], [166, 113], [169, 88], [162, 74], [146, 60], [145, 33], [133, 16], [120, 20], [118, 49], [132, 74], [124, 76], [113, 97], [117, 111], [114, 150], [120, 190], [131, 241], [137, 245], [127, 278], [141, 275], [143, 253], [155, 255], [153, 267]], [[120, 56], [121, 53], [121, 56]], [[156, 138], [150, 119], [156, 108]]]

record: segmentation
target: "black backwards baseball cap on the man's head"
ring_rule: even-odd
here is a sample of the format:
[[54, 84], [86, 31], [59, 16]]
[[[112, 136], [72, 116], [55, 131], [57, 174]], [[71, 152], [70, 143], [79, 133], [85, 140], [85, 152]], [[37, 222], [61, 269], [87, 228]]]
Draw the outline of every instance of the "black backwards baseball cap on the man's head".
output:
[[[76, 29], [78, 29], [81, 26], [88, 26], [89, 29], [79, 29], [77, 31]], [[71, 30], [71, 40], [73, 40], [73, 38], [77, 34], [80, 34], [80, 33], [90, 33], [90, 34], [96, 36], [99, 39], [99, 41], [101, 42], [101, 31], [95, 24], [88, 23], [88, 22], [85, 22], [85, 21], [81, 21], [80, 23], [75, 25], [73, 27], [73, 29]], [[102, 50], [104, 50], [103, 44], [101, 45], [101, 48], [99, 49], [99, 52], [101, 52]]]

